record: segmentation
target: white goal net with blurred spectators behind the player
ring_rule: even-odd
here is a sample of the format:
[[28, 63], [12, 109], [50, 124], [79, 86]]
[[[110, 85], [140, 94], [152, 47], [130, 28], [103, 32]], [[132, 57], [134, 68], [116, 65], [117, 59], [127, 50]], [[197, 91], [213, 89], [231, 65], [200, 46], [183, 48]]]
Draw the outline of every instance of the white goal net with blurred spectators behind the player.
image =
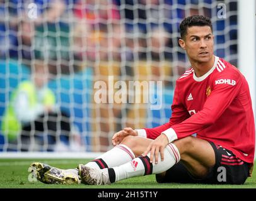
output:
[[237, 0], [0, 1], [0, 151], [98, 153], [122, 128], [167, 122], [194, 14], [237, 65]]

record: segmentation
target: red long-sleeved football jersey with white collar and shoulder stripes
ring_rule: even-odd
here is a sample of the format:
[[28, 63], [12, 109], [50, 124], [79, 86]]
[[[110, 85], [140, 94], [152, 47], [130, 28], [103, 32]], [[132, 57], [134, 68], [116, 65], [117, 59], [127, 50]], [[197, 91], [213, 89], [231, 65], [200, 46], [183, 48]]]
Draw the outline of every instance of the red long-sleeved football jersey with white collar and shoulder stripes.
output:
[[147, 138], [165, 133], [169, 142], [196, 133], [253, 163], [255, 125], [247, 80], [218, 57], [202, 77], [190, 68], [177, 80], [170, 122], [145, 130]]

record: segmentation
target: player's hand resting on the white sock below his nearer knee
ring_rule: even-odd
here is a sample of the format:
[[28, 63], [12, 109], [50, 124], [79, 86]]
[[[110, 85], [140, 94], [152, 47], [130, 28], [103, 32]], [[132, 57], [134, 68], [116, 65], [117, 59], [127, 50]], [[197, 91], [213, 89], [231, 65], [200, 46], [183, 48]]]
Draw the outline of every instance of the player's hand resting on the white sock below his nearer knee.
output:
[[158, 156], [160, 153], [161, 156], [161, 161], [164, 159], [164, 149], [168, 144], [168, 138], [166, 137], [165, 134], [160, 134], [154, 141], [152, 141], [146, 151], [144, 151], [142, 156], [148, 155], [150, 153], [150, 163], [158, 163]]

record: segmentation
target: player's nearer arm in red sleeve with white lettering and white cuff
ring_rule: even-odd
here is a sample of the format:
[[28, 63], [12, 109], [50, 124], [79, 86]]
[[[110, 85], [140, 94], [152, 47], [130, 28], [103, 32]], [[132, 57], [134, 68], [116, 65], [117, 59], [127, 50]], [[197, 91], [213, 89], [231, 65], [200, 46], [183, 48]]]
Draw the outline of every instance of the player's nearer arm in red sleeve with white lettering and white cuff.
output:
[[212, 92], [202, 110], [180, 124], [173, 125], [172, 128], [163, 131], [168, 142], [198, 133], [214, 124], [236, 98], [241, 90], [242, 82], [238, 72], [214, 77]]

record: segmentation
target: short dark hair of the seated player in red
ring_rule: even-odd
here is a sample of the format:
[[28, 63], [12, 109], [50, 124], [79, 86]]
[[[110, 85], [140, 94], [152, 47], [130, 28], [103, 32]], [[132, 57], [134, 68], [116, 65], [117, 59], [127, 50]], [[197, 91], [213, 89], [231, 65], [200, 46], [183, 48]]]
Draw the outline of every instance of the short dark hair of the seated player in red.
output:
[[211, 19], [202, 15], [189, 16], [180, 23], [180, 36], [184, 39], [187, 35], [187, 28], [190, 26], [209, 26], [212, 30]]

